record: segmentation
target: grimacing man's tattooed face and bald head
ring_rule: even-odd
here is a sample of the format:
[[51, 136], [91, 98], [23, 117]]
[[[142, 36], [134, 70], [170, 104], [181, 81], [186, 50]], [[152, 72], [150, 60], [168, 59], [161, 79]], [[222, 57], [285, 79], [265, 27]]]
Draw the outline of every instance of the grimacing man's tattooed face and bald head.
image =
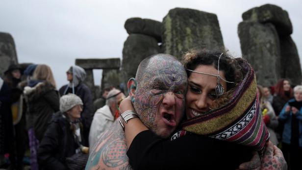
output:
[[174, 58], [153, 57], [137, 84], [134, 108], [157, 135], [166, 138], [184, 113], [187, 74]]

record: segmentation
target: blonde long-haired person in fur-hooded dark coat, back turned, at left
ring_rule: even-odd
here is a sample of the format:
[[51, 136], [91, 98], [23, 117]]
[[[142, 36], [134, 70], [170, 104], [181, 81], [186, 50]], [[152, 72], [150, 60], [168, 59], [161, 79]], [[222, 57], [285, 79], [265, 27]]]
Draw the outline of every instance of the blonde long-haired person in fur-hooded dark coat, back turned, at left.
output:
[[59, 111], [59, 94], [49, 66], [38, 65], [33, 79], [24, 88], [27, 104], [26, 128], [28, 130], [31, 170], [38, 170], [36, 150], [53, 113]]

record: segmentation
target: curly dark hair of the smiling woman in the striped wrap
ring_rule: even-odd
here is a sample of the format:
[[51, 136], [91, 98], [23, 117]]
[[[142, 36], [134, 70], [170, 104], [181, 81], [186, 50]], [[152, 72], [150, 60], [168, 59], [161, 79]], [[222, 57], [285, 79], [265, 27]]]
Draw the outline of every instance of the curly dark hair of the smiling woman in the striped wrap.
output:
[[[213, 101], [211, 109], [221, 107], [231, 99], [235, 87], [243, 80], [243, 71], [239, 63], [246, 61], [230, 56], [226, 50], [191, 49], [182, 57], [182, 64], [185, 69], [195, 70], [199, 65], [211, 65], [218, 69], [218, 58], [221, 53], [223, 54], [219, 61], [219, 70], [225, 73], [227, 81], [234, 83], [227, 83], [226, 93]], [[192, 73], [188, 70], [186, 72], [188, 77]]]

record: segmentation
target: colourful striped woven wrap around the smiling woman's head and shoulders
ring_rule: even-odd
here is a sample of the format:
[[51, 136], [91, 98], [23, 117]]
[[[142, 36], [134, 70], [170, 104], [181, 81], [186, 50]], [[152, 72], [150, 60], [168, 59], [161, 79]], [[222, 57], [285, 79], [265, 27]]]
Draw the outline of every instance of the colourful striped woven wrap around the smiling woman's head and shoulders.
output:
[[247, 62], [240, 64], [244, 78], [236, 87], [232, 99], [220, 108], [184, 121], [182, 129], [262, 150], [269, 140], [269, 132], [259, 111], [255, 73]]

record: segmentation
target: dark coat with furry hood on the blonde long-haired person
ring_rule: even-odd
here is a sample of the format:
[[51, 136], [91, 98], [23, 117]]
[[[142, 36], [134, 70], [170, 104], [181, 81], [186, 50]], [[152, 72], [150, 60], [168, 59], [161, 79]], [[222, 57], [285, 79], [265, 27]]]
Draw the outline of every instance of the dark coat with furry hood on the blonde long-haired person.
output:
[[59, 94], [48, 81], [31, 80], [28, 85], [24, 88], [26, 126], [34, 128], [36, 138], [41, 141], [52, 114], [59, 111]]

